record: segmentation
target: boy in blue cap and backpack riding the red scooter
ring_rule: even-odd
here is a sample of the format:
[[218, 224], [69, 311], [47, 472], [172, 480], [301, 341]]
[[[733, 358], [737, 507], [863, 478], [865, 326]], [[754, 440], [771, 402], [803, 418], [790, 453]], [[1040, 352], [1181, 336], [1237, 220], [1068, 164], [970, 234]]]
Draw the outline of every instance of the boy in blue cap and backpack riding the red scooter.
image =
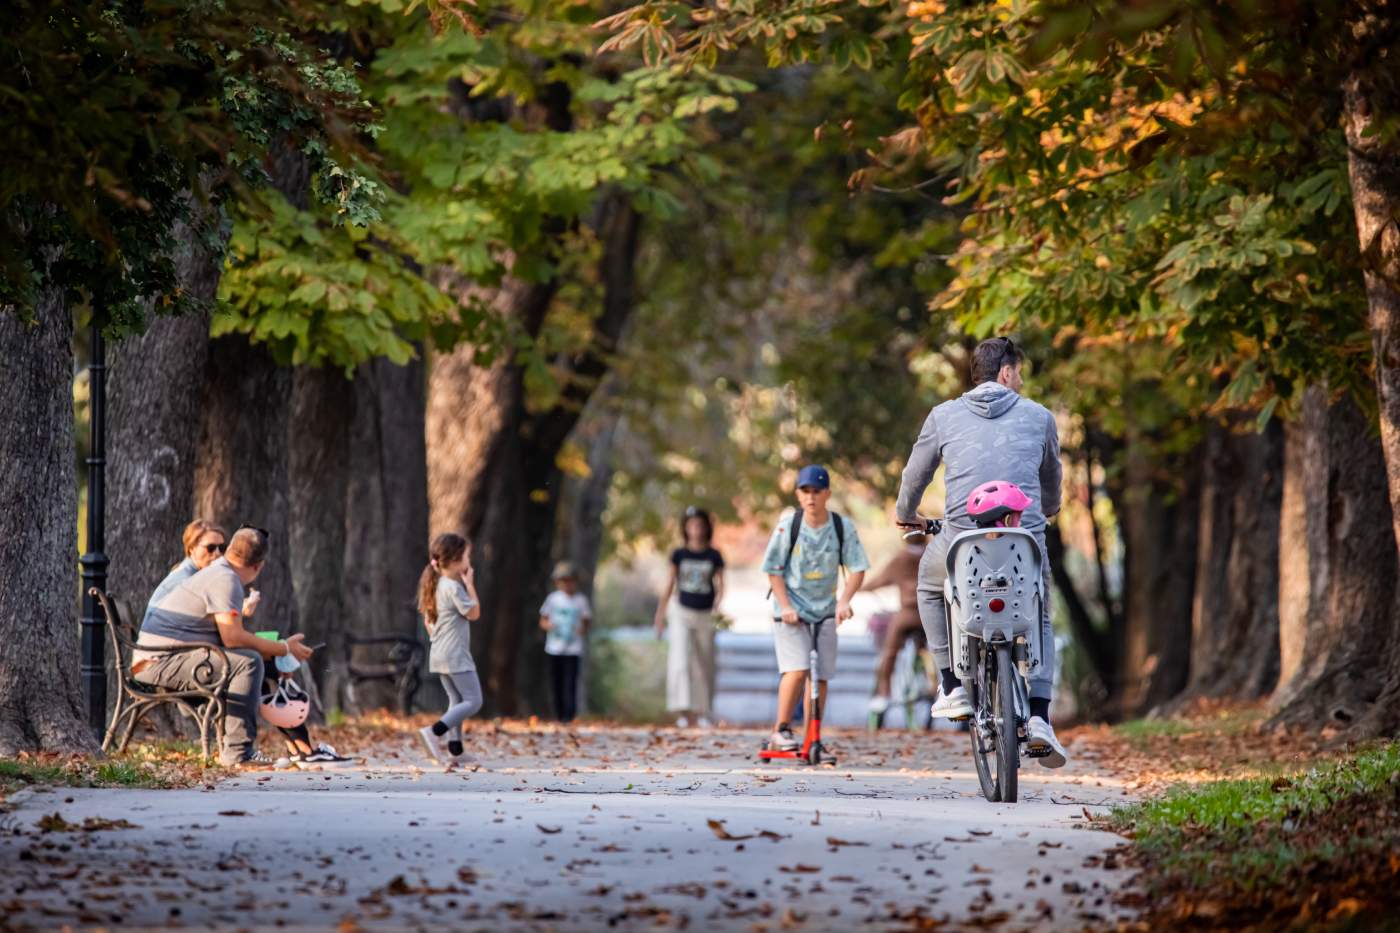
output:
[[[825, 706], [826, 684], [836, 672], [836, 626], [851, 618], [851, 597], [869, 569], [855, 525], [827, 510], [830, 497], [832, 478], [826, 468], [804, 466], [797, 475], [798, 509], [778, 520], [763, 553], [763, 572], [773, 584], [773, 647], [783, 675], [777, 721], [769, 740], [769, 748], [776, 751], [798, 747], [790, 720], [797, 698], [809, 692], [806, 672], [812, 646], [802, 619], [836, 619], [836, 625], [822, 626], [818, 639], [818, 702]], [[837, 597], [841, 567], [846, 567], [846, 583]], [[805, 721], [812, 720], [812, 712], [805, 710]]]

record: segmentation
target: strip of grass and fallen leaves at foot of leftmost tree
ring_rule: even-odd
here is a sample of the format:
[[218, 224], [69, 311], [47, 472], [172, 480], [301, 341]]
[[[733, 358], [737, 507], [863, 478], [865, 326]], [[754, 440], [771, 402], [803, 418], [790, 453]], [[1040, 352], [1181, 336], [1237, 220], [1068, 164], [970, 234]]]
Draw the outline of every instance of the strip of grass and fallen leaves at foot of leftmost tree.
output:
[[25, 752], [0, 758], [0, 800], [22, 787], [190, 787], [221, 778], [188, 742], [133, 744], [122, 755], [85, 758]]

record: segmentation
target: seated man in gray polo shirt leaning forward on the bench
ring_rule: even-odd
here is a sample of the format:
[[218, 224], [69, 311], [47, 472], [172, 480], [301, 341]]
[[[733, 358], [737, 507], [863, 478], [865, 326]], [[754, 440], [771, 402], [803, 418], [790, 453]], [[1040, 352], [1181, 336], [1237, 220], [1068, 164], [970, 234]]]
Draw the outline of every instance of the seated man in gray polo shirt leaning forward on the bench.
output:
[[272, 759], [256, 749], [258, 698], [263, 682], [263, 658], [290, 654], [298, 661], [311, 657], [301, 635], [283, 642], [260, 639], [244, 628], [244, 587], [262, 573], [267, 560], [267, 535], [256, 528], [239, 528], [223, 558], [175, 587], [154, 604], [141, 622], [137, 650], [132, 657], [136, 679], [153, 686], [188, 689], [199, 684], [197, 668], [206, 661], [214, 678], [223, 675], [221, 661], [210, 651], [162, 653], [183, 644], [223, 644], [232, 677], [224, 719], [224, 765], [262, 766]]

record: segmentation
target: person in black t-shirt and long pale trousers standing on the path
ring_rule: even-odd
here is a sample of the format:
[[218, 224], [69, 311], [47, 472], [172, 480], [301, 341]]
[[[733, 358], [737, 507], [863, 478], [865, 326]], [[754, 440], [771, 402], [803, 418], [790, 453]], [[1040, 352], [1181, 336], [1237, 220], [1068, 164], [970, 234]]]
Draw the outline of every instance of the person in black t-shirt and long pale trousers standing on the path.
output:
[[[671, 579], [657, 605], [657, 637], [666, 635], [666, 710], [676, 726], [708, 727], [714, 705], [714, 612], [724, 598], [724, 558], [711, 545], [710, 513], [692, 506], [671, 552]], [[675, 594], [675, 600], [672, 600]]]

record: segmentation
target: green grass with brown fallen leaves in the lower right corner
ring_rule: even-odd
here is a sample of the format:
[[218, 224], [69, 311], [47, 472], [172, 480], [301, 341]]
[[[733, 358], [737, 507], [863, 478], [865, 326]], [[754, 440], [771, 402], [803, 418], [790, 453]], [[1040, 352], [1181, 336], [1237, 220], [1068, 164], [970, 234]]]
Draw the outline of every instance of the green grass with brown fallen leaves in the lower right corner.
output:
[[1176, 922], [1326, 926], [1400, 904], [1400, 742], [1177, 787], [1109, 820], [1133, 838], [1154, 911]]

